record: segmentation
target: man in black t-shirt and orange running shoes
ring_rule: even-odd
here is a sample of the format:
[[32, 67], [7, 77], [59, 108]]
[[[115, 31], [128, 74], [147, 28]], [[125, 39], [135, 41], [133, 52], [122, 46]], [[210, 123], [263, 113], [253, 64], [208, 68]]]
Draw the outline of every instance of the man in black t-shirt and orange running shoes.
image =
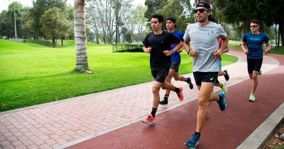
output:
[[[155, 120], [155, 114], [160, 101], [160, 88], [176, 92], [179, 100], [183, 100], [182, 87], [176, 88], [171, 83], [165, 82], [172, 65], [171, 55], [178, 51], [183, 46], [183, 43], [174, 34], [161, 29], [163, 22], [164, 18], [162, 15], [153, 14], [151, 16], [151, 26], [154, 32], [148, 33], [143, 41], [143, 51], [150, 53], [151, 73], [155, 78], [152, 87], [154, 96], [152, 112], [142, 121], [146, 124], [150, 124]], [[178, 45], [171, 50], [171, 44]]]

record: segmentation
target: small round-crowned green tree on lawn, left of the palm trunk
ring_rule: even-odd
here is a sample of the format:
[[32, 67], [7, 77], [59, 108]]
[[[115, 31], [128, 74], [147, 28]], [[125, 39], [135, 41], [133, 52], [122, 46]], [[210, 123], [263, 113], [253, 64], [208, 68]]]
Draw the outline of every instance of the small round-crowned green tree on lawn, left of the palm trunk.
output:
[[40, 23], [42, 24], [41, 31], [45, 36], [52, 38], [53, 48], [56, 46], [55, 39], [67, 35], [71, 24], [66, 19], [67, 15], [60, 11], [59, 8], [53, 7], [45, 11], [40, 18]]

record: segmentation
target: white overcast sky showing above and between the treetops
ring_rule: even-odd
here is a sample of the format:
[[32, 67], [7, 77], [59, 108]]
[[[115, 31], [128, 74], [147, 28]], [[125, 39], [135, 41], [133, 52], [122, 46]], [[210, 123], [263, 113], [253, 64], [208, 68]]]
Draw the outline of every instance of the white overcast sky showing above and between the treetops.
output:
[[[13, 3], [14, 1], [18, 1], [20, 2], [22, 5], [25, 6], [32, 6], [32, 0], [0, 0], [1, 1], [1, 5], [0, 5], [0, 12], [2, 10], [7, 10], [8, 9], [8, 5], [10, 3]], [[67, 4], [70, 3], [72, 6], [74, 6], [74, 0], [67, 0]], [[138, 5], [141, 4], [144, 6], [145, 0], [133, 0], [133, 4], [134, 5]], [[190, 0], [191, 5], [194, 3], [194, 0]]]

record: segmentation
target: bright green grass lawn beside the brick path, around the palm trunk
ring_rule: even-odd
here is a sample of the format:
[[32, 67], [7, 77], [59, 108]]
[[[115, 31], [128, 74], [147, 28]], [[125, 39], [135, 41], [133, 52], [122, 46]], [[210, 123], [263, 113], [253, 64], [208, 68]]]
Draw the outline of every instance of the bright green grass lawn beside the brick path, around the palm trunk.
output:
[[[61, 45], [61, 41], [58, 40]], [[50, 40], [0, 40], [0, 111], [72, 98], [153, 81], [149, 54], [112, 52], [111, 45], [87, 43], [93, 74], [75, 73], [75, 43], [52, 47]], [[181, 53], [180, 74], [192, 72], [192, 58]], [[222, 64], [236, 62], [222, 55]]]

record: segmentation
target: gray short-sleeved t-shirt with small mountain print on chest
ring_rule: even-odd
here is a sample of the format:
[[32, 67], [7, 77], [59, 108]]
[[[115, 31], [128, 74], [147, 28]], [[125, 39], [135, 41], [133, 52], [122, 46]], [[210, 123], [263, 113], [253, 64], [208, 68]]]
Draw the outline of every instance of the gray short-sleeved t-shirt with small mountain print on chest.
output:
[[199, 26], [198, 22], [187, 26], [183, 39], [190, 40], [190, 49], [196, 51], [193, 57], [193, 72], [219, 71], [219, 61], [213, 53], [214, 50], [219, 49], [218, 37], [224, 39], [227, 34], [222, 26], [214, 22], [209, 22], [205, 26]]

